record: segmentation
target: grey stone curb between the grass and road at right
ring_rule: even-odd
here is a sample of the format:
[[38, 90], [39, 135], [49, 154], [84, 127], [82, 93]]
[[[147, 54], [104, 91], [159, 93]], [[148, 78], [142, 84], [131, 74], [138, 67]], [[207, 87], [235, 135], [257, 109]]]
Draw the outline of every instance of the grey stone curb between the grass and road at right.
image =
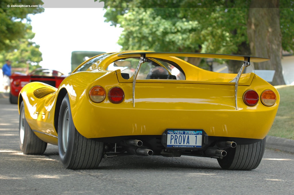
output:
[[265, 147], [268, 149], [278, 149], [280, 151], [294, 153], [294, 140], [267, 135]]

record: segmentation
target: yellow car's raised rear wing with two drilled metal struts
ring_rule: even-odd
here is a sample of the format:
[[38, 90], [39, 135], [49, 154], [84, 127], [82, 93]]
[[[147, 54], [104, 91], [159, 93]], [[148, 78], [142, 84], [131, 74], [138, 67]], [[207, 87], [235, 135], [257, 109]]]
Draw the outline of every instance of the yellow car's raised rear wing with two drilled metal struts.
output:
[[218, 58], [218, 59], [226, 59], [226, 60], [239, 60], [243, 61], [243, 65], [241, 66], [237, 76], [231, 80], [230, 82], [235, 82], [235, 105], [236, 110], [237, 106], [237, 92], [238, 92], [238, 83], [240, 80], [240, 76], [242, 75], [245, 67], [250, 65], [250, 62], [264, 62], [270, 60], [269, 58], [259, 58], [254, 56], [241, 56], [241, 55], [227, 55], [227, 54], [210, 54], [210, 53], [178, 53], [178, 52], [129, 52], [129, 53], [121, 53], [118, 54], [118, 57], [140, 57], [139, 64], [135, 70], [133, 76], [133, 106], [135, 107], [135, 85], [136, 78], [139, 72], [141, 65], [146, 61], [146, 57], [163, 57], [163, 56], [175, 56], [175, 57], [195, 57], [195, 58]]

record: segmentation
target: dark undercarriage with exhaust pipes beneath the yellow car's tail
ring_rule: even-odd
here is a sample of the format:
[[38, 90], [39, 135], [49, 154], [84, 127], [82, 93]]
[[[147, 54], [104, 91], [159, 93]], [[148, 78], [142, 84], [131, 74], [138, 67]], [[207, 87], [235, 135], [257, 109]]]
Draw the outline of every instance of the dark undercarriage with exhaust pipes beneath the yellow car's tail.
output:
[[164, 157], [198, 156], [223, 159], [228, 152], [237, 144], [253, 144], [260, 139], [230, 138], [204, 136], [200, 148], [168, 148], [164, 146], [163, 136], [145, 135], [145, 136], [122, 136], [96, 138], [99, 142], [105, 143], [104, 158], [118, 157], [124, 155], [151, 156], [161, 155]]

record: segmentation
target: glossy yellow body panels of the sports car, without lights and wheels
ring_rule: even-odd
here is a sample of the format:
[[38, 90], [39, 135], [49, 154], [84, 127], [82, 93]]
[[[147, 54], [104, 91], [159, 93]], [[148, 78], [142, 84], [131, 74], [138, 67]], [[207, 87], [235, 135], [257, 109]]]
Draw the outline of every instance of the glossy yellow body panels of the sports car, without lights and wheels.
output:
[[[121, 58], [118, 54], [97, 63], [97, 71], [74, 71], [58, 89], [38, 82], [22, 88], [19, 102], [24, 101], [26, 120], [40, 139], [57, 145], [58, 102], [65, 93], [69, 94], [74, 125], [86, 138], [161, 135], [171, 128], [203, 129], [208, 137], [263, 139], [272, 126], [279, 94], [265, 80], [254, 73], [242, 74], [236, 109], [235, 83], [230, 82], [236, 74], [206, 71], [170, 56], [160, 58], [176, 62], [186, 80], [136, 80], [133, 107], [133, 77], [124, 79], [120, 71], [106, 70]], [[112, 87], [120, 87], [125, 94], [123, 102], [113, 104], [107, 95], [101, 103], [92, 102], [89, 91], [96, 85], [106, 94]], [[268, 107], [259, 100], [257, 105], [247, 106], [243, 94], [250, 89], [259, 96], [264, 90], [273, 90], [276, 103]]]

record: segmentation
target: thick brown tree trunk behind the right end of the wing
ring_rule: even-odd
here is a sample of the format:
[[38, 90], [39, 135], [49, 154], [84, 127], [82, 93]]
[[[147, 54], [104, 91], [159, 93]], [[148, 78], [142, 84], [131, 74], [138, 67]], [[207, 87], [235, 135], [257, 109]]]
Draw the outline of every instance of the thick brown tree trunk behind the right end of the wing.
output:
[[282, 73], [282, 34], [279, 0], [252, 0], [248, 12], [247, 34], [252, 56], [270, 58], [255, 63], [257, 70], [275, 70], [273, 85], [285, 85]]

